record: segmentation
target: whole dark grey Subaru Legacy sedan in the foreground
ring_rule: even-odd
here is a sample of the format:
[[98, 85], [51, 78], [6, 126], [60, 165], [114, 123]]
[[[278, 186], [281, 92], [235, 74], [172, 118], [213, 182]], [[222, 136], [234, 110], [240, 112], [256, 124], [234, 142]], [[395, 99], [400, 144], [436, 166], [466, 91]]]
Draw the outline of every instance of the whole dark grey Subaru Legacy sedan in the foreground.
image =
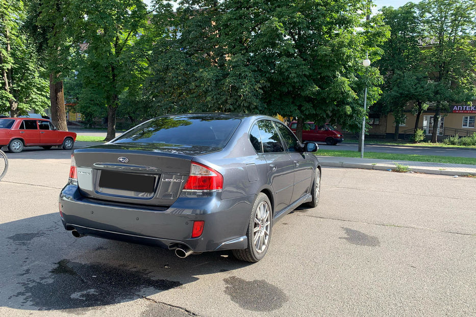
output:
[[192, 253], [264, 257], [273, 223], [319, 201], [321, 168], [281, 121], [184, 114], [74, 150], [59, 198], [66, 230]]

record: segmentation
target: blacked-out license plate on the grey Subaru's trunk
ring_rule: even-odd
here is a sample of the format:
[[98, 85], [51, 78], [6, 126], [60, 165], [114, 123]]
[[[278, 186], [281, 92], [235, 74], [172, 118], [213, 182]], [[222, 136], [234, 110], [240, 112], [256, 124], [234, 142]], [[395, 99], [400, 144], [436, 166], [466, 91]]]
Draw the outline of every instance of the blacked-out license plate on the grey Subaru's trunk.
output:
[[99, 179], [99, 187], [141, 193], [154, 192], [154, 183], [154, 176], [112, 171], [101, 171]]

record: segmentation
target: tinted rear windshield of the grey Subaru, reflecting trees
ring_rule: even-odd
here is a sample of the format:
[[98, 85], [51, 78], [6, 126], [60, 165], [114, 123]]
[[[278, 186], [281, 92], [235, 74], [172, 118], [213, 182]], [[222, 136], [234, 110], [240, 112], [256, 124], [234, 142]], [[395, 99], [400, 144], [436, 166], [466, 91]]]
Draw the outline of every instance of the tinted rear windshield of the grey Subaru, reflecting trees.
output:
[[223, 148], [240, 121], [216, 116], [159, 117], [124, 133], [114, 143], [164, 143]]

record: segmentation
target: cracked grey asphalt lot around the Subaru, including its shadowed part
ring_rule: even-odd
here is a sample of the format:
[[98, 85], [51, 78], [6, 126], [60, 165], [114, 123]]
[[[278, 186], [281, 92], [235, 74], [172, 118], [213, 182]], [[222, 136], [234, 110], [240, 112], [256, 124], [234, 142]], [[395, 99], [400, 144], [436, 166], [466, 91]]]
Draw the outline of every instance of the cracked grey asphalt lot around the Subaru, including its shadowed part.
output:
[[69, 151], [20, 154], [0, 181], [2, 316], [476, 315], [476, 179], [324, 168], [319, 206], [248, 264], [75, 239], [58, 215]]

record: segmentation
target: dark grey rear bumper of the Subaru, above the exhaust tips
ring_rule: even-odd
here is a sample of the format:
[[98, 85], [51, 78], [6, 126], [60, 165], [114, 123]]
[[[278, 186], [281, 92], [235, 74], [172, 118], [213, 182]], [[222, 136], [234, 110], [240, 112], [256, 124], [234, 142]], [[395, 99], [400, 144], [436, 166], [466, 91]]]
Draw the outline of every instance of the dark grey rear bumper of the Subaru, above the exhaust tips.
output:
[[[182, 193], [170, 207], [154, 208], [89, 199], [78, 186], [67, 184], [59, 202], [65, 229], [81, 234], [170, 249], [184, 245], [195, 252], [244, 249], [256, 195], [224, 200], [220, 196]], [[192, 239], [196, 220], [205, 222], [204, 230]]]

